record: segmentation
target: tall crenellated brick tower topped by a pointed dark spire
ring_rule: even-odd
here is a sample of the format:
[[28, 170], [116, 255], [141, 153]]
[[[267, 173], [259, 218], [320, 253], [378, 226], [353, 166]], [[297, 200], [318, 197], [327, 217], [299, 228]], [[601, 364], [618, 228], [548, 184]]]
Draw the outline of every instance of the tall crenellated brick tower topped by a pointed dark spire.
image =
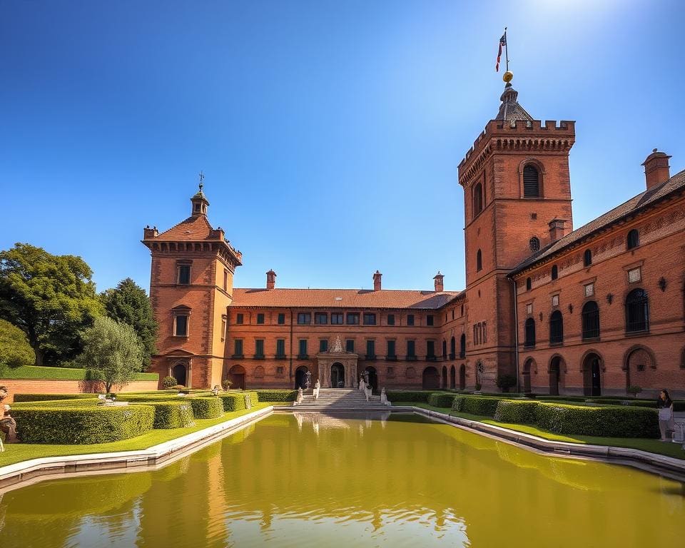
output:
[[543, 124], [517, 98], [507, 81], [497, 117], [459, 165], [467, 356], [483, 390], [494, 388], [497, 375], [515, 372], [514, 292], [507, 273], [572, 230], [569, 151], [574, 122]]

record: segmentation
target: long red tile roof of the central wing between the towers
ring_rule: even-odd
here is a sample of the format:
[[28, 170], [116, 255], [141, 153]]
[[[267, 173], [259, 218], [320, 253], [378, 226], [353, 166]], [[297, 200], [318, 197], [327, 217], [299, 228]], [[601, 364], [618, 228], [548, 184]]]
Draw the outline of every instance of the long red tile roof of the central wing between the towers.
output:
[[370, 289], [238, 289], [231, 306], [286, 308], [415, 308], [436, 310], [455, 300], [459, 291]]

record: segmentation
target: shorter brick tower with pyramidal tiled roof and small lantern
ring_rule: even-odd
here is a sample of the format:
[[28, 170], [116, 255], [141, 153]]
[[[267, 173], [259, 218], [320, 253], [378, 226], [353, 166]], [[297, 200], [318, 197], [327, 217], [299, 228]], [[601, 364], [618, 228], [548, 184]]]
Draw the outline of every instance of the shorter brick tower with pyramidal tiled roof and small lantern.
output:
[[207, 219], [209, 202], [200, 190], [191, 198], [191, 216], [166, 232], [145, 228], [151, 251], [150, 298], [159, 323], [158, 354], [152, 368], [160, 380], [176, 377], [192, 388], [223, 378], [226, 312], [233, 273], [242, 255], [221, 228]]

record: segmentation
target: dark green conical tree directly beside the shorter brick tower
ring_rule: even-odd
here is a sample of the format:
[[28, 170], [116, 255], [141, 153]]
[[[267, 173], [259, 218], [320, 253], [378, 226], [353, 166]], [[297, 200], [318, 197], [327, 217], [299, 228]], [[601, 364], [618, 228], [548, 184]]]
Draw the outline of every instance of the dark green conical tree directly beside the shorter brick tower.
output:
[[126, 278], [116, 288], [102, 293], [101, 298], [110, 318], [128, 323], [136, 332], [143, 346], [143, 367], [148, 367], [151, 355], [157, 352], [158, 325], [145, 290]]

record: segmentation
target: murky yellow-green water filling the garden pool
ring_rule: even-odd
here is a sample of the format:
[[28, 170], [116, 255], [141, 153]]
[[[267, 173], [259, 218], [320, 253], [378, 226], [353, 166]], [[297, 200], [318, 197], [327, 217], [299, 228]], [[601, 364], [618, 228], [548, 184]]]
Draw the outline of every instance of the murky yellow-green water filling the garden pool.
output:
[[427, 422], [272, 415], [161, 470], [5, 492], [2, 547], [685, 545], [685, 487]]

